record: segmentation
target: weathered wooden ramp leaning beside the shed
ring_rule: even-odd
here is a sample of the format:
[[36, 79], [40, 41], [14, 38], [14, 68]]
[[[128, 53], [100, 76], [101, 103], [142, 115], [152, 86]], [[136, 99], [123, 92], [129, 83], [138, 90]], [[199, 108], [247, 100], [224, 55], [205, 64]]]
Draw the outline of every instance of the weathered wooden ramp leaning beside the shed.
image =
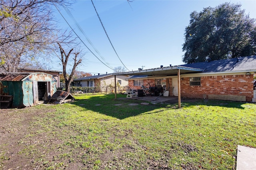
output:
[[75, 98], [68, 92], [57, 90], [50, 98], [50, 104], [62, 104], [67, 102], [74, 102]]

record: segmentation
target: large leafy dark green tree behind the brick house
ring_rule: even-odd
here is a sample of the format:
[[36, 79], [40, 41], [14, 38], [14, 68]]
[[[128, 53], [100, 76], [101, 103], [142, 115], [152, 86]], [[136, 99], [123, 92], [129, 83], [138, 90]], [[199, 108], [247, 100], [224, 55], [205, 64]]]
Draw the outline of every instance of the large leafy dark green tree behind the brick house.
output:
[[240, 4], [224, 3], [190, 14], [185, 29], [184, 63], [256, 55], [255, 19]]

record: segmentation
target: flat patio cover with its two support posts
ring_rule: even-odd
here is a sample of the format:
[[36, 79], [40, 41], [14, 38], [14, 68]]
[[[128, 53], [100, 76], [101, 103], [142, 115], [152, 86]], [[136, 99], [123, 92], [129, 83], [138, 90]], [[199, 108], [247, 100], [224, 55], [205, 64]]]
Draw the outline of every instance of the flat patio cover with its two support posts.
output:
[[[114, 74], [115, 80], [115, 99], [116, 99], [116, 75], [147, 75], [151, 78], [157, 76], [176, 76], [178, 79], [178, 107], [181, 107], [181, 98], [180, 98], [180, 75], [181, 74], [188, 74], [188, 73], [196, 73], [196, 72], [203, 72], [203, 69], [200, 68], [191, 68], [191, 67], [184, 67], [184, 66], [168, 66], [168, 67], [160, 67], [160, 68], [152, 68], [147, 70], [136, 70], [130, 72], [120, 72]], [[168, 87], [170, 88], [170, 87]]]

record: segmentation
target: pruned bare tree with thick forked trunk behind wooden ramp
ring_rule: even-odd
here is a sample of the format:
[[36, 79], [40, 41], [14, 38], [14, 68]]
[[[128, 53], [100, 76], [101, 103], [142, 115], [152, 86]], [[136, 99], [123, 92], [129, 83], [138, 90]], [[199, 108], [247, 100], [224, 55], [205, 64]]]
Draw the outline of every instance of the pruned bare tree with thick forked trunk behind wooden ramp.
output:
[[[72, 51], [74, 50], [74, 48], [70, 49], [70, 51], [68, 53], [65, 52], [65, 50], [62, 48], [60, 43], [57, 43], [60, 49], [60, 57], [58, 57], [61, 62], [62, 62], [62, 68], [63, 68], [63, 76], [65, 79], [65, 87], [66, 87], [66, 92], [70, 93], [70, 84], [73, 81], [73, 76], [74, 73], [76, 71], [76, 67], [78, 66], [78, 64], [80, 64], [82, 62], [81, 58], [78, 58], [78, 55], [80, 54], [80, 52], [75, 52], [72, 53]], [[74, 54], [74, 64], [73, 64], [73, 68], [71, 73], [68, 75], [67, 74], [67, 65], [68, 65], [68, 59], [70, 57], [71, 54]], [[57, 55], [58, 56], [58, 55]]]

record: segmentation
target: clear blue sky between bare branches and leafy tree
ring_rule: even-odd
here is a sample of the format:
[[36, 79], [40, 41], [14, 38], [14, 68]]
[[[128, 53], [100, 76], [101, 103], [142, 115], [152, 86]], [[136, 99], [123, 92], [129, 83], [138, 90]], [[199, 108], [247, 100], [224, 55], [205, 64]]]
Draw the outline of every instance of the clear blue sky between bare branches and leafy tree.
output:
[[[158, 68], [160, 65], [184, 64], [182, 62], [184, 30], [189, 24], [190, 13], [193, 11], [200, 12], [209, 6], [216, 7], [224, 2], [231, 2], [242, 4], [241, 9], [245, 9], [245, 13], [249, 14], [250, 18], [256, 18], [255, 0], [134, 0], [130, 3], [126, 0], [93, 0], [93, 2], [118, 56], [130, 71], [138, 70], [142, 66], [143, 69], [150, 69]], [[102, 62], [107, 62], [109, 65], [106, 65], [112, 68], [123, 66], [108, 41], [91, 0], [78, 0], [71, 6], [70, 12], [101, 56], [95, 52], [66, 11], [64, 9], [60, 11]], [[58, 12], [56, 18], [63, 29], [70, 30]], [[113, 72], [84, 45], [81, 49], [86, 54], [77, 70], [90, 72], [93, 75]], [[61, 66], [54, 66], [52, 69], [61, 70]]]

